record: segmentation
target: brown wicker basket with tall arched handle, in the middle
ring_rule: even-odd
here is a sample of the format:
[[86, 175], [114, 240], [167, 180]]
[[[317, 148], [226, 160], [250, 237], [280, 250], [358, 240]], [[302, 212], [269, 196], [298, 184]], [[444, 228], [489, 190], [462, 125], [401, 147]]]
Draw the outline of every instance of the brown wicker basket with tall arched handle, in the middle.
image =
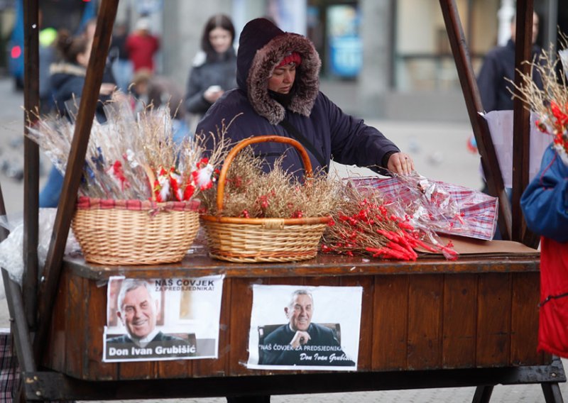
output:
[[[232, 160], [248, 145], [263, 142], [293, 145], [300, 153], [306, 177], [312, 175], [310, 158], [296, 140], [280, 136], [257, 136], [242, 140], [227, 155], [219, 175], [217, 211], [223, 210], [226, 174]], [[238, 263], [259, 263], [294, 262], [314, 258], [330, 217], [244, 219], [202, 216], [201, 219], [212, 258]]]

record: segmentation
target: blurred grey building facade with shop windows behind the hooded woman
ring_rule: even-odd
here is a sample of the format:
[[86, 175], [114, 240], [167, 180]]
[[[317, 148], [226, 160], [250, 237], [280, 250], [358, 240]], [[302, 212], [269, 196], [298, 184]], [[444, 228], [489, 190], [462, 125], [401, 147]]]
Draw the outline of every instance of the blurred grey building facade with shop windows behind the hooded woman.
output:
[[[568, 32], [568, 7], [561, 3], [534, 1], [545, 48], [557, 43], [557, 26]], [[515, 1], [456, 4], [477, 72], [485, 53], [508, 39]], [[121, 0], [117, 20], [132, 27], [148, 16], [162, 38], [158, 72], [185, 87], [204, 21], [219, 12], [233, 19], [237, 35], [259, 16], [307, 35], [322, 57], [322, 88], [336, 91], [329, 95], [350, 113], [468, 120], [438, 0]]]

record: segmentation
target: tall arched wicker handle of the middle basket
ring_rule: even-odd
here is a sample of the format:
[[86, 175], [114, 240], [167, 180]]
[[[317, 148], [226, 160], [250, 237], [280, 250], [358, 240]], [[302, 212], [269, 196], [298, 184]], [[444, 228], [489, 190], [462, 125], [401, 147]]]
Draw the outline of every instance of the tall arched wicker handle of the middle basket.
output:
[[306, 150], [303, 148], [302, 144], [293, 138], [283, 137], [283, 136], [255, 136], [251, 138], [246, 138], [245, 140], [239, 141], [234, 148], [229, 151], [223, 162], [223, 167], [221, 168], [221, 173], [219, 173], [219, 183], [217, 184], [217, 214], [219, 214], [223, 209], [223, 199], [225, 194], [225, 182], [226, 174], [229, 172], [229, 166], [233, 162], [236, 154], [239, 153], [245, 147], [256, 143], [285, 143], [292, 145], [298, 153], [300, 153], [300, 158], [302, 158], [302, 163], [304, 164], [305, 177], [312, 177], [312, 162], [310, 157], [307, 155]]

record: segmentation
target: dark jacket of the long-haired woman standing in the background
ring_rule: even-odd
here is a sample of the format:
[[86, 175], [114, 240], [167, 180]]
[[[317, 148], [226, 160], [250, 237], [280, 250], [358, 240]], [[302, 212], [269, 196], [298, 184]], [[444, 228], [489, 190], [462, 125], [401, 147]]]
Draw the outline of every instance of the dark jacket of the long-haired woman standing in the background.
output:
[[224, 91], [236, 87], [236, 54], [232, 47], [218, 57], [207, 57], [204, 52], [197, 54], [187, 80], [187, 112], [200, 115], [207, 112], [212, 104], [203, 94], [212, 85], [218, 85]]

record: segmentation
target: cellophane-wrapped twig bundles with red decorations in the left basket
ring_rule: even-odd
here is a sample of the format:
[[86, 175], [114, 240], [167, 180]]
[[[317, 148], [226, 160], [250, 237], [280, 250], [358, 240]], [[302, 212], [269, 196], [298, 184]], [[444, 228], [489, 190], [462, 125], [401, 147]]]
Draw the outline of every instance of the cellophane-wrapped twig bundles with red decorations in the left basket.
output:
[[[221, 153], [204, 158], [206, 136], [186, 136], [175, 143], [167, 105], [150, 105], [135, 114], [129, 100], [117, 93], [104, 111], [107, 121], [93, 121], [89, 136], [82, 196], [187, 201], [210, 186]], [[74, 133], [75, 115], [49, 115], [38, 116], [28, 136], [65, 175]]]

